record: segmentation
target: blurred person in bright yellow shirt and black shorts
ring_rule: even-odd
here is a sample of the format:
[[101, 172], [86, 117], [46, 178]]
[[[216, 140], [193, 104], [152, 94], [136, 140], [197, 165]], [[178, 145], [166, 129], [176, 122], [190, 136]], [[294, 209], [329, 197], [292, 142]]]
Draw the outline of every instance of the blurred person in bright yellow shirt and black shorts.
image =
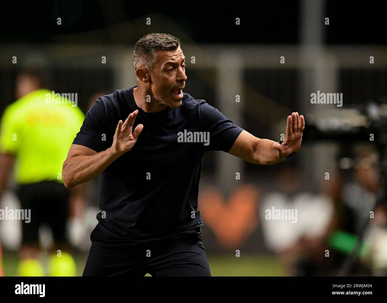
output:
[[[17, 100], [5, 108], [1, 118], [0, 198], [12, 170], [20, 211], [29, 214], [27, 220], [21, 220], [19, 276], [75, 276], [74, 259], [66, 252], [70, 191], [63, 185], [62, 164], [84, 114], [74, 100], [43, 89], [42, 79], [44, 82], [44, 74], [37, 69], [22, 71], [16, 79]], [[50, 226], [55, 240], [47, 272], [38, 258], [42, 223]]]

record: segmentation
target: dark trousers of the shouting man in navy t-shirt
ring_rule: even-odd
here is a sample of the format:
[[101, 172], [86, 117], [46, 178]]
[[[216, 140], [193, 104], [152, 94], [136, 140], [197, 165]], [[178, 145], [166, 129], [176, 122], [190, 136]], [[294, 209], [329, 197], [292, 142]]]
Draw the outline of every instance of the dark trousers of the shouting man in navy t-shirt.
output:
[[[96, 227], [82, 276], [211, 277], [201, 236], [195, 230], [157, 240], [104, 241]], [[101, 241], [102, 240], [102, 241]]]

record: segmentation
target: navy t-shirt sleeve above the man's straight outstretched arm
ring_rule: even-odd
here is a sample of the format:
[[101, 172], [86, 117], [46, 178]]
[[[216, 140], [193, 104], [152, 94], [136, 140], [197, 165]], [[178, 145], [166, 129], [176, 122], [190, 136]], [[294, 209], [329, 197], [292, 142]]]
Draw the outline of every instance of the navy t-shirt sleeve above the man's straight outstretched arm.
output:
[[199, 112], [202, 129], [204, 132], [209, 132], [209, 144], [205, 149], [228, 152], [243, 128], [235, 125], [208, 103], [200, 104]]

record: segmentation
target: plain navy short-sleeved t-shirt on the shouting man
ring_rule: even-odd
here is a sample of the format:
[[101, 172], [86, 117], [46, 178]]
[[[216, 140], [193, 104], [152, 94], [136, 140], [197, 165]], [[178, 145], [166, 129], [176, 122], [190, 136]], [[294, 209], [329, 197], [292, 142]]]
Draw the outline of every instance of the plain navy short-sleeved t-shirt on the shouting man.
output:
[[203, 155], [211, 150], [228, 152], [243, 129], [187, 93], [183, 93], [180, 107], [147, 113], [135, 103], [134, 87], [98, 98], [73, 141], [96, 152], [104, 151], [113, 143], [118, 121], [139, 110], [132, 131], [138, 124], [144, 128], [134, 147], [100, 175], [102, 211], [97, 214], [97, 228], [117, 240], [146, 240], [200, 230], [203, 222], [198, 193]]

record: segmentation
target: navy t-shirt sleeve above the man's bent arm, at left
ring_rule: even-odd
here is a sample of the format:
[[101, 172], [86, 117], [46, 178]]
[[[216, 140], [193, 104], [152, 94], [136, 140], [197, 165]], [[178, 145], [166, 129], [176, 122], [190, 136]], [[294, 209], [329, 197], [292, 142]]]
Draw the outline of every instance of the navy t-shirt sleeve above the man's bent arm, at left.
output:
[[82, 126], [72, 144], [79, 144], [91, 148], [96, 152], [103, 151], [104, 141], [104, 116], [105, 107], [101, 99], [86, 113]]

